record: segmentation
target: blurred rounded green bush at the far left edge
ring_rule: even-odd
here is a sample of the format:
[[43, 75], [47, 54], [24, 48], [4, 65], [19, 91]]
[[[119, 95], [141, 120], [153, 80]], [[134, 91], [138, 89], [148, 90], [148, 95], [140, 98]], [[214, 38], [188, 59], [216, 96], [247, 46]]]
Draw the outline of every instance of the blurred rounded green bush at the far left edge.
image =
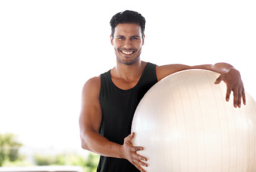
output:
[[19, 148], [22, 143], [19, 143], [17, 136], [11, 133], [0, 133], [0, 166], [3, 166], [4, 161], [19, 160]]

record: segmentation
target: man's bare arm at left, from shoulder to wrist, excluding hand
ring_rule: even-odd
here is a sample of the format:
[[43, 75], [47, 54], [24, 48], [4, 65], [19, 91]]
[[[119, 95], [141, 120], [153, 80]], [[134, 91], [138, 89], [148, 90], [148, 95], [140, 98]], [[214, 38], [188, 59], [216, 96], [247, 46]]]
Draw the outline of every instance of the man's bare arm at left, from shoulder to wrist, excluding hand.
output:
[[80, 138], [82, 148], [102, 156], [121, 158], [121, 145], [110, 142], [98, 134], [102, 112], [100, 107], [100, 78], [88, 80], [82, 89], [82, 108], [80, 113]]

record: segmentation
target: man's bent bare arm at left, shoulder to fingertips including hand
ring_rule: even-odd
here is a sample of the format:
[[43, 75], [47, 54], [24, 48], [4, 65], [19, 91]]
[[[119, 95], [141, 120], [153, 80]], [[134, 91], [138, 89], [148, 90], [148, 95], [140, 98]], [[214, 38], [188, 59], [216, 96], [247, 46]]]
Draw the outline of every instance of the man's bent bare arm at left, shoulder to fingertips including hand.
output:
[[102, 120], [99, 97], [100, 77], [94, 77], [88, 80], [82, 89], [82, 107], [79, 119], [82, 148], [102, 156], [128, 159], [139, 170], [144, 171], [141, 166], [147, 166], [142, 162], [146, 161], [146, 158], [136, 153], [143, 148], [133, 146], [131, 140], [134, 133], [125, 138], [123, 145], [113, 143], [98, 134]]

